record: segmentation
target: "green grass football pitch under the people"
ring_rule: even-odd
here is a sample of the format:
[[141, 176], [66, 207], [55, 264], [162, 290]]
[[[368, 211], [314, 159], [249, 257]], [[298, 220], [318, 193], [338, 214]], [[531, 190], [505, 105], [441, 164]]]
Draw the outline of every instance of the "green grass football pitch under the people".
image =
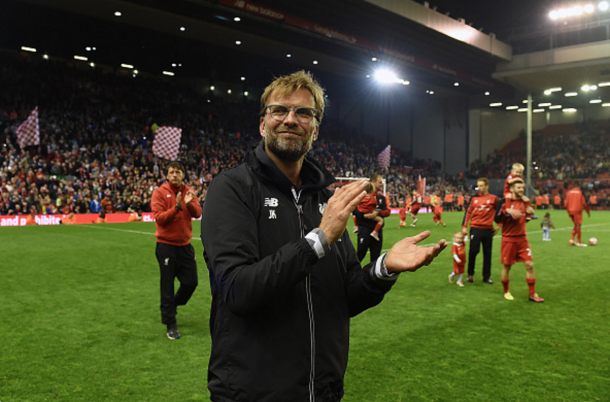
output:
[[[343, 400], [609, 401], [610, 212], [585, 216], [583, 240], [599, 240], [587, 248], [568, 245], [565, 211], [551, 216], [551, 242], [542, 241], [540, 221], [528, 224], [544, 303], [528, 302], [522, 263], [511, 272], [515, 300], [502, 298], [499, 238], [493, 285], [481, 282], [482, 255], [475, 283], [450, 285], [445, 250], [352, 320]], [[417, 229], [399, 230], [392, 216], [384, 245], [426, 229], [423, 243], [450, 242], [462, 217], [443, 213], [443, 228], [422, 214]], [[200, 285], [179, 309], [183, 338], [170, 341], [153, 233], [150, 223], [0, 228], [1, 402], [209, 400], [201, 242], [193, 240]]]

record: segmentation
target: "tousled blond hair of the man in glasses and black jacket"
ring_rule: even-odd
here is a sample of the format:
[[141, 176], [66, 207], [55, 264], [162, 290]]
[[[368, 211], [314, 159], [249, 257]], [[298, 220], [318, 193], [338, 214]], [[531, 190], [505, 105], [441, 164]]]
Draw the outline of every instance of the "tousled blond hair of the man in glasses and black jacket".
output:
[[317, 110], [315, 117], [318, 124], [320, 124], [324, 116], [324, 88], [322, 88], [310, 72], [304, 70], [278, 77], [265, 88], [261, 95], [261, 117], [267, 113], [267, 102], [269, 102], [271, 94], [287, 97], [299, 89], [306, 89], [313, 96], [313, 107]]

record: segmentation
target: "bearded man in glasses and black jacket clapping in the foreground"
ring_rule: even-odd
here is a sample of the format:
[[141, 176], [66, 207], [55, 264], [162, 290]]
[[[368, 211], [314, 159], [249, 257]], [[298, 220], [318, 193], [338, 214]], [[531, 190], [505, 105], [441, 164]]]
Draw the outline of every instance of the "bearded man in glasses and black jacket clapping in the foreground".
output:
[[277, 78], [261, 97], [262, 142], [208, 189], [201, 239], [216, 402], [341, 400], [350, 318], [447, 245], [417, 246], [424, 232], [360, 266], [345, 228], [367, 180], [333, 195], [335, 178], [305, 156], [324, 106], [309, 73]]

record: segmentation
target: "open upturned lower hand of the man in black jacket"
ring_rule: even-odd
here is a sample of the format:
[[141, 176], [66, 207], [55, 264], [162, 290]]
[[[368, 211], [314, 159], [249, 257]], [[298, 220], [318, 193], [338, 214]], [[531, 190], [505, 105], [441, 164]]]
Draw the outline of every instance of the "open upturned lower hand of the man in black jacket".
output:
[[432, 247], [417, 246], [417, 243], [430, 236], [426, 230], [417, 236], [407, 237], [395, 243], [385, 260], [388, 272], [415, 272], [430, 263], [447, 247], [447, 241], [442, 239]]

